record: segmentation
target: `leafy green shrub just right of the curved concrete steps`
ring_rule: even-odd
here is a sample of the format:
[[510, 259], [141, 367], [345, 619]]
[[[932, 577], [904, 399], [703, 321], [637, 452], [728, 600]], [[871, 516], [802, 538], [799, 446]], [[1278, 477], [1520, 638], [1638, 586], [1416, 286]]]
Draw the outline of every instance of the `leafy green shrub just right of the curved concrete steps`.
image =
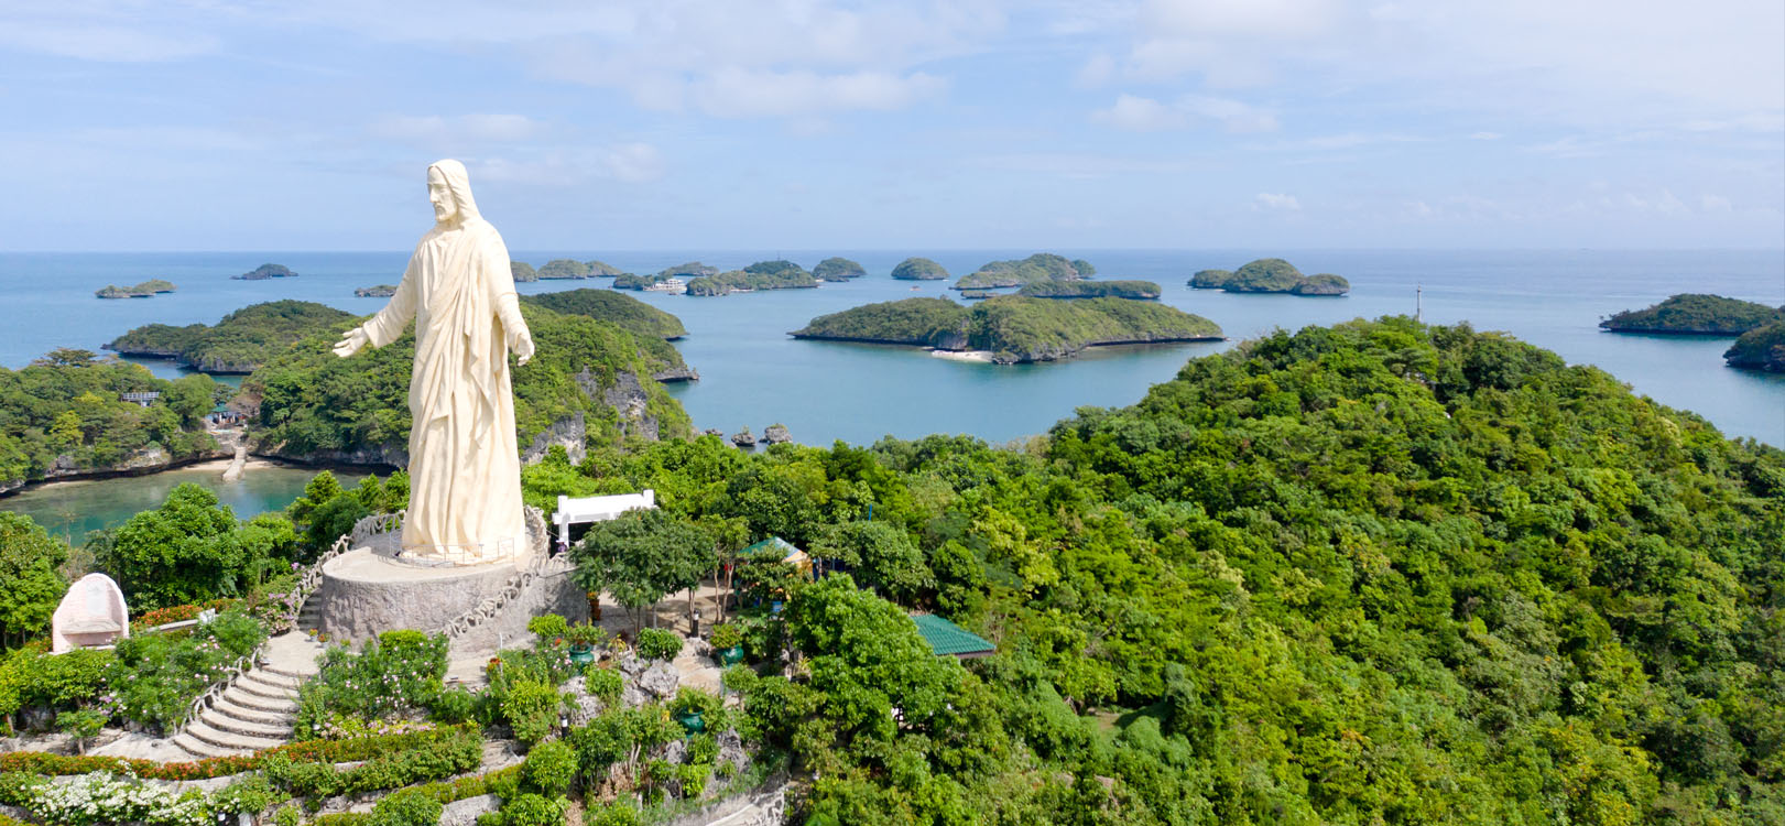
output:
[[298, 689], [298, 737], [327, 737], [334, 717], [355, 721], [419, 715], [444, 689], [446, 635], [386, 632], [361, 653], [330, 648], [321, 671]]

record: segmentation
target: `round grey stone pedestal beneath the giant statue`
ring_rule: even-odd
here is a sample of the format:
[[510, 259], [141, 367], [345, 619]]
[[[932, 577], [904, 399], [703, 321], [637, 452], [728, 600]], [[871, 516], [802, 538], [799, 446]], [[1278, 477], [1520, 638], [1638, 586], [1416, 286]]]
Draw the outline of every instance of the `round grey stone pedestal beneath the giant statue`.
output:
[[589, 617], [587, 594], [566, 558], [546, 557], [544, 523], [528, 519], [528, 553], [484, 566], [428, 567], [398, 558], [400, 530], [366, 537], [323, 566], [316, 626], [330, 640], [364, 640], [412, 628], [448, 633], [453, 649], [494, 651], [528, 639], [527, 621]]

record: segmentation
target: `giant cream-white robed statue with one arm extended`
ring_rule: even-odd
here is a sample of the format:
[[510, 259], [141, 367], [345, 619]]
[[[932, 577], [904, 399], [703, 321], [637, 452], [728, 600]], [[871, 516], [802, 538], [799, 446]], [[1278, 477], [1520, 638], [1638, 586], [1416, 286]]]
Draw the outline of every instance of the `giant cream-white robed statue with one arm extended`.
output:
[[428, 200], [436, 225], [391, 303], [334, 351], [346, 359], [389, 344], [416, 321], [403, 558], [494, 562], [528, 548], [509, 350], [527, 364], [534, 337], [516, 303], [509, 248], [477, 214], [464, 164], [428, 166]]

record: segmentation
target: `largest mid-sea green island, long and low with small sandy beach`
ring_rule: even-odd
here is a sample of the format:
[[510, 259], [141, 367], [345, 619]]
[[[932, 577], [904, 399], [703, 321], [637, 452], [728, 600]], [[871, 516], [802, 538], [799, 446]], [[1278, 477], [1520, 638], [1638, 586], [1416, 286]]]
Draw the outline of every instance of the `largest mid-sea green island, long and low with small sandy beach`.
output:
[[1021, 364], [1069, 359], [1103, 344], [1219, 341], [1221, 326], [1176, 307], [1123, 298], [996, 296], [973, 307], [948, 298], [907, 298], [819, 316], [789, 335], [982, 351], [998, 364]]

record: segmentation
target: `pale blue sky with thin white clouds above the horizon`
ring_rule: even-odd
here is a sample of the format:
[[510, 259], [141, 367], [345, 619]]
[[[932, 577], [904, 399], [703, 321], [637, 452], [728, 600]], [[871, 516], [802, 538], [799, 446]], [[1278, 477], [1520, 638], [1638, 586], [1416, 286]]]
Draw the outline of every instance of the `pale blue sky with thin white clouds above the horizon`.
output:
[[1785, 246], [1785, 4], [0, 5], [0, 250]]

